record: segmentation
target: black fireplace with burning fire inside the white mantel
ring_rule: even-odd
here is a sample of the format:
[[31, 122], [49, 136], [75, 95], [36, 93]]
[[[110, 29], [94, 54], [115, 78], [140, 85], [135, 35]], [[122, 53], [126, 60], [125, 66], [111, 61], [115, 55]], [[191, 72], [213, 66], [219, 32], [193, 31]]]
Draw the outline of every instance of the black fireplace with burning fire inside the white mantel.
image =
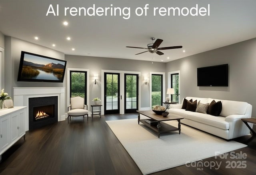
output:
[[58, 121], [58, 96], [28, 98], [29, 130]]

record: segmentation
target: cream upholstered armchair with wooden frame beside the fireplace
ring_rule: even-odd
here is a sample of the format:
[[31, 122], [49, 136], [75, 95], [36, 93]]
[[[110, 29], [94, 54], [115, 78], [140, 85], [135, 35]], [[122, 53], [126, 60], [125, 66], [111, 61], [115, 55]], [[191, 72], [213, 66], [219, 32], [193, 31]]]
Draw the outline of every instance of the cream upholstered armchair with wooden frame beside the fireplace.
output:
[[[86, 109], [85, 109], [86, 107]], [[88, 121], [88, 107], [84, 104], [84, 98], [71, 97], [70, 105], [68, 106], [68, 118], [87, 115]], [[68, 119], [69, 122], [69, 119]]]

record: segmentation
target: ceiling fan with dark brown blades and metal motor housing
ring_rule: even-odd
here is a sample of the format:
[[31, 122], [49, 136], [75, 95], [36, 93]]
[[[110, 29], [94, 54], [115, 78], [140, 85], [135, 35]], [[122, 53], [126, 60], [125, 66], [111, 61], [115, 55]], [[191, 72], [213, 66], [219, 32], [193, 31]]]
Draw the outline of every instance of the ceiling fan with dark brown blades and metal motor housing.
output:
[[[147, 51], [145, 52], [150, 52], [151, 54], [158, 54], [158, 55], [163, 55], [163, 52], [160, 52], [158, 50], [167, 50], [167, 49], [178, 49], [178, 48], [182, 48], [182, 46], [171, 46], [171, 47], [164, 47], [164, 48], [158, 48], [160, 46], [160, 44], [163, 42], [163, 40], [161, 39], [157, 39], [155, 42], [155, 38], [150, 38], [152, 40], [152, 43], [148, 44], [148, 48], [140, 48], [140, 47], [132, 47], [132, 46], [126, 46], [126, 48], [137, 48], [137, 49], [147, 49]], [[145, 52], [140, 52], [138, 54], [142, 54]], [[135, 55], [138, 55], [135, 54]]]

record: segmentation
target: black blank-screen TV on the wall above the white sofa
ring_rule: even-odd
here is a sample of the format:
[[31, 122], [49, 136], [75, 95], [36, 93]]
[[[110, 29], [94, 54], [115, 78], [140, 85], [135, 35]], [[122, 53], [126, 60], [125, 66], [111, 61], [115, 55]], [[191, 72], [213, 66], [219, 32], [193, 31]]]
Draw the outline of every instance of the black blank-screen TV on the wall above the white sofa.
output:
[[197, 86], [228, 86], [228, 64], [197, 68]]

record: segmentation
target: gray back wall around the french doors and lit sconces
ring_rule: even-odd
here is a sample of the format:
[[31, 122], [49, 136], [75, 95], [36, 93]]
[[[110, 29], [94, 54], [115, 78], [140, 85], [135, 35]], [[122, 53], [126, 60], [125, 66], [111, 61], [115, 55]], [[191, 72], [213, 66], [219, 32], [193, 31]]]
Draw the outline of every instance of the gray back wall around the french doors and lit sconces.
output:
[[101, 70], [120, 70], [120, 71], [136, 71], [141, 72], [141, 107], [149, 107], [149, 84], [145, 85], [144, 75], [150, 72], [165, 72], [166, 64], [159, 62], [140, 61], [140, 60], [127, 60], [118, 58], [98, 58], [88, 56], [73, 56], [66, 55], [67, 68], [83, 68], [90, 70], [90, 100], [94, 97], [101, 96], [101, 85], [91, 86], [93, 74], [98, 74], [101, 81]]

